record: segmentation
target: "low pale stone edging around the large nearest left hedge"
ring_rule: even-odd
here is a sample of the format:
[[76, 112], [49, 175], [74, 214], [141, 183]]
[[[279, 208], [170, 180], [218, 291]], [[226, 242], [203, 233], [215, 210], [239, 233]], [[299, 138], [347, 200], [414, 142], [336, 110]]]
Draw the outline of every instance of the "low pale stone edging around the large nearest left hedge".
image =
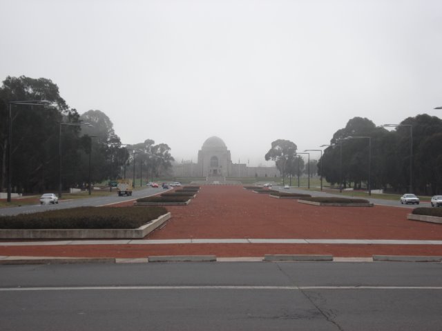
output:
[[171, 218], [168, 212], [136, 229], [0, 230], [1, 239], [142, 239]]

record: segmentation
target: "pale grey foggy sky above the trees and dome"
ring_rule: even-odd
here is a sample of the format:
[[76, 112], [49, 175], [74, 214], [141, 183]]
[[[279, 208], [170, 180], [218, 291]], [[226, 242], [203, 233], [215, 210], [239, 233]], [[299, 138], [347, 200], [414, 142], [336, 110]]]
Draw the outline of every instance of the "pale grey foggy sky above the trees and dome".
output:
[[51, 79], [123, 143], [168, 143], [177, 161], [215, 135], [233, 162], [270, 164], [276, 139], [317, 149], [356, 116], [442, 114], [440, 0], [0, 0], [0, 12], [1, 81]]

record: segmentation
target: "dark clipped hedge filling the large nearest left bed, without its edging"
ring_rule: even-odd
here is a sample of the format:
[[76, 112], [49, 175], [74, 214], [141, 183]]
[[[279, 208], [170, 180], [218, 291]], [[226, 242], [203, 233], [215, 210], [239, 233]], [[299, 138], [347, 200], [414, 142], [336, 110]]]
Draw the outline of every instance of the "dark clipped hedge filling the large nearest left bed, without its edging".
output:
[[157, 219], [163, 207], [79, 207], [0, 217], [1, 229], [135, 229]]

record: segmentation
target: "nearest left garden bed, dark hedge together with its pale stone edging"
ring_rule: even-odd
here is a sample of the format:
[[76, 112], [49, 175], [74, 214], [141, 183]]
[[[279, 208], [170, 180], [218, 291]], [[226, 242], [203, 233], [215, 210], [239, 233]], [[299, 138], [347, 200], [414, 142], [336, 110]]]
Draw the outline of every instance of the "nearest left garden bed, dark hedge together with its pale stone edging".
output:
[[81, 207], [0, 217], [1, 239], [143, 238], [171, 217], [165, 208]]

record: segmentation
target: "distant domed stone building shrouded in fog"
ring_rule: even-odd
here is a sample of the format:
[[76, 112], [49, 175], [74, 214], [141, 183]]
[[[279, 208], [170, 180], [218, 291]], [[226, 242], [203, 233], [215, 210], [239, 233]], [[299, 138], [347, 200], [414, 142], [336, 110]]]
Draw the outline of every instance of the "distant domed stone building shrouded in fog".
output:
[[175, 177], [279, 177], [276, 167], [248, 167], [232, 163], [230, 150], [218, 137], [204, 141], [198, 151], [198, 162], [182, 161], [173, 165]]

